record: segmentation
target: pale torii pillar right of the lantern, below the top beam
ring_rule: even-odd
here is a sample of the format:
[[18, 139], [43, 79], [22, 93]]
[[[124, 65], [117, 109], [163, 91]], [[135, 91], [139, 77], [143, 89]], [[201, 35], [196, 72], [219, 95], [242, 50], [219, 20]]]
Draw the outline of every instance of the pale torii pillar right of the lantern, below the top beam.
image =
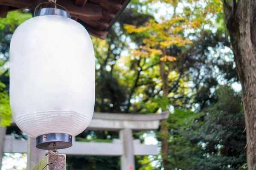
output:
[[119, 138], [123, 143], [123, 155], [121, 156], [121, 170], [135, 170], [134, 142], [131, 129], [122, 129]]

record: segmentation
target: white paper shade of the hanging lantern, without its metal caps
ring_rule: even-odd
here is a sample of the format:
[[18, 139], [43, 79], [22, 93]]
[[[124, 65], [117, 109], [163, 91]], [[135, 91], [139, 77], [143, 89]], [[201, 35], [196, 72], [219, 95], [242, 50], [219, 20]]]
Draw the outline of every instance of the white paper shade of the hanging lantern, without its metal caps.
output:
[[81, 24], [47, 15], [22, 23], [10, 46], [10, 103], [29, 136], [76, 136], [90, 123], [95, 101], [93, 44]]

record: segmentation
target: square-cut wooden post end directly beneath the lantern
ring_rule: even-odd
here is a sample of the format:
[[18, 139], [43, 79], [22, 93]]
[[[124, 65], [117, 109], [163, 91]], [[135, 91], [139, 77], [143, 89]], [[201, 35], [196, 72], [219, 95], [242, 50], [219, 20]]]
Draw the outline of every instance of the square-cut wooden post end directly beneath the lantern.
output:
[[66, 155], [48, 154], [33, 170], [66, 170]]

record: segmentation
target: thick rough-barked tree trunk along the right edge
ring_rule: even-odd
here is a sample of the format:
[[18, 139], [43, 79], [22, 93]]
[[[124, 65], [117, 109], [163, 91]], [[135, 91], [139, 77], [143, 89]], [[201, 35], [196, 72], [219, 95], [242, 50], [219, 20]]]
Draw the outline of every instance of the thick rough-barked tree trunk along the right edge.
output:
[[236, 69], [242, 85], [248, 170], [256, 170], [256, 0], [224, 0]]

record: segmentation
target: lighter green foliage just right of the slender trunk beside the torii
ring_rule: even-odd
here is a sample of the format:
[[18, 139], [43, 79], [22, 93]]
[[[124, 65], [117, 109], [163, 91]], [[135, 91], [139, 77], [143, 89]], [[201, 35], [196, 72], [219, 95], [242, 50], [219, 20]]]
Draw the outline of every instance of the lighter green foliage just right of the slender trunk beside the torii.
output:
[[[192, 168], [192, 157], [201, 156], [200, 147], [189, 142], [183, 132], [195, 127], [196, 122], [201, 122], [204, 113], [195, 113], [185, 109], [175, 108], [175, 112], [170, 114], [167, 121], [169, 130], [169, 164], [166, 165], [169, 170]], [[200, 125], [199, 125], [200, 127]], [[161, 134], [159, 135], [160, 138]]]

